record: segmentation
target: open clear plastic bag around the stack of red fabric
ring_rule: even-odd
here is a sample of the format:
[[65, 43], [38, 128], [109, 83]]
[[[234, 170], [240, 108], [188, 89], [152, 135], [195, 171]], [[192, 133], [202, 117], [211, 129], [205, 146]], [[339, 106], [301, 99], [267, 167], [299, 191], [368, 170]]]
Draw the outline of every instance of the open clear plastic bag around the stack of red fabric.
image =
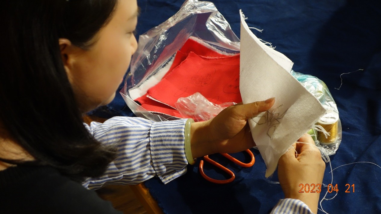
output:
[[[136, 116], [153, 121], [177, 119], [148, 112], [134, 102], [130, 91], [138, 89], [146, 81], [151, 81], [151, 77], [158, 78], [155, 74], [173, 60], [176, 51], [191, 36], [218, 51], [227, 54], [239, 53], [239, 38], [213, 3], [186, 1], [178, 13], [170, 19], [139, 36], [138, 49], [131, 60], [129, 77], [126, 78], [125, 85], [120, 91], [126, 104]], [[143, 87], [139, 90], [142, 95], [147, 89]]]

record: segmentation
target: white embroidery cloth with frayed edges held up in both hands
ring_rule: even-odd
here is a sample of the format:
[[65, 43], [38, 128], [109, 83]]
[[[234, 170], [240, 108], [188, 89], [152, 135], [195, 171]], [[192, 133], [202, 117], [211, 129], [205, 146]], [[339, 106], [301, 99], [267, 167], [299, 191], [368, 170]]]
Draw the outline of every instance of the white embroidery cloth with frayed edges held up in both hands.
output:
[[282, 156], [325, 109], [289, 71], [292, 61], [261, 42], [241, 15], [240, 93], [244, 104], [275, 97], [268, 112], [249, 120], [251, 134], [271, 176]]

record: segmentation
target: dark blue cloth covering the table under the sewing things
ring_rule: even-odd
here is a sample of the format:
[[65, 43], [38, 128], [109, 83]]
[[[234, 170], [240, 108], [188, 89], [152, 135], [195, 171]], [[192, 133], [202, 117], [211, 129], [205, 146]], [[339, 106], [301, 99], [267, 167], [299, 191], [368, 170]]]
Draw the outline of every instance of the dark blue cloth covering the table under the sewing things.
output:
[[[171, 17], [182, 3], [138, 0], [141, 7], [138, 34]], [[250, 27], [264, 29], [262, 33], [254, 33], [290, 58], [295, 71], [316, 76], [327, 84], [343, 126], [343, 140], [337, 153], [331, 156], [333, 168], [360, 161], [381, 165], [381, 1], [216, 0], [214, 3], [238, 37], [239, 9], [242, 9]], [[357, 69], [364, 71], [344, 74], [343, 85], [340, 90], [335, 89], [341, 84], [340, 74]], [[93, 113], [133, 115], [118, 93], [111, 104]], [[253, 152], [256, 162], [249, 169], [237, 167], [218, 154], [211, 156], [235, 172], [236, 179], [231, 184], [209, 183], [200, 176], [197, 167], [188, 166], [186, 175], [169, 184], [163, 185], [154, 178], [145, 185], [165, 213], [267, 213], [284, 195], [279, 184], [267, 182], [276, 181], [276, 173], [265, 179], [263, 159], [258, 151], [253, 149]], [[245, 159], [243, 153], [235, 155]], [[327, 165], [325, 184], [331, 181], [329, 171]], [[207, 173], [214, 178], [221, 176], [218, 171], [207, 170]], [[381, 168], [359, 163], [340, 167], [333, 174], [333, 184], [338, 184], [339, 192], [333, 200], [323, 201], [328, 213], [381, 213]], [[355, 184], [355, 192], [345, 193], [345, 184]], [[324, 194], [323, 188], [321, 197]]]

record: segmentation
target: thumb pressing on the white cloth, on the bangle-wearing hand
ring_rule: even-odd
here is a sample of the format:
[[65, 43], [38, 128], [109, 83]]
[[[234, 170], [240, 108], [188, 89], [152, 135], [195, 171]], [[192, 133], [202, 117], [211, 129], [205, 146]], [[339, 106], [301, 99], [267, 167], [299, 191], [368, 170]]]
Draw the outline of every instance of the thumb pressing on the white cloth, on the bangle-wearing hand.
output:
[[239, 120], [247, 120], [257, 116], [259, 113], [269, 110], [274, 105], [275, 98], [265, 101], [251, 102], [248, 104], [237, 104], [233, 106], [232, 111], [238, 116]]

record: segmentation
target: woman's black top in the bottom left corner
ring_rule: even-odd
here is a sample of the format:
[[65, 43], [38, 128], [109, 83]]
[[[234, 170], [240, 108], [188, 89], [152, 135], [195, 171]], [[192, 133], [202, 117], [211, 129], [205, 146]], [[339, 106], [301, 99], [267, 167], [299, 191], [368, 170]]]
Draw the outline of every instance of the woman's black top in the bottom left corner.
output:
[[51, 167], [0, 171], [0, 213], [122, 213]]

